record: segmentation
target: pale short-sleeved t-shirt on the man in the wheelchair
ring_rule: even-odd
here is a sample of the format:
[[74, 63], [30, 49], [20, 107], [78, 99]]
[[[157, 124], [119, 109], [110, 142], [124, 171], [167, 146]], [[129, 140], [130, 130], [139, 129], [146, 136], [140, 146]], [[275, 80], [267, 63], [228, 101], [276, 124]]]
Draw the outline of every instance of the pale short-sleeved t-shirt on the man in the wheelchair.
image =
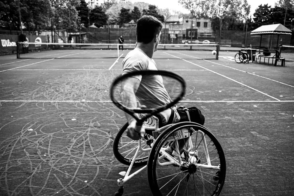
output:
[[[130, 51], [122, 62], [122, 75], [139, 70], [157, 70], [156, 63], [149, 58], [141, 49], [135, 48]], [[165, 106], [171, 102], [170, 97], [163, 85], [163, 79], [160, 75], [150, 76], [133, 76], [139, 79], [140, 85], [136, 92], [136, 98], [140, 105], [147, 108], [158, 108]], [[171, 110], [167, 109], [160, 112], [162, 124], [166, 124], [171, 114]]]

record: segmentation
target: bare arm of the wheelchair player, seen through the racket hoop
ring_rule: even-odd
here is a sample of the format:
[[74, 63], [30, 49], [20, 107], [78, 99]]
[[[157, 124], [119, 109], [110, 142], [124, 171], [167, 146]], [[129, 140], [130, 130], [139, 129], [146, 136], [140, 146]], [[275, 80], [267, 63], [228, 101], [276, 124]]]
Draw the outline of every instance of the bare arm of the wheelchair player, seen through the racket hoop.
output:
[[[140, 85], [140, 80], [137, 78], [129, 77], [121, 83], [121, 102], [128, 108], [136, 109], [137, 100], [135, 93]], [[128, 122], [135, 120], [131, 115], [125, 113]]]

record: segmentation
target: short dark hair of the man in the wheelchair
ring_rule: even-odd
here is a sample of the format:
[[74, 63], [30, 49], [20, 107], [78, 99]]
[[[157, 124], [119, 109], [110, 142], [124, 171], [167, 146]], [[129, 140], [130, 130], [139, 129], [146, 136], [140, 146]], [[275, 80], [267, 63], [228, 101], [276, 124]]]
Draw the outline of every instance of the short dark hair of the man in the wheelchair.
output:
[[159, 35], [162, 22], [150, 15], [143, 15], [137, 20], [137, 42], [150, 43], [155, 35]]

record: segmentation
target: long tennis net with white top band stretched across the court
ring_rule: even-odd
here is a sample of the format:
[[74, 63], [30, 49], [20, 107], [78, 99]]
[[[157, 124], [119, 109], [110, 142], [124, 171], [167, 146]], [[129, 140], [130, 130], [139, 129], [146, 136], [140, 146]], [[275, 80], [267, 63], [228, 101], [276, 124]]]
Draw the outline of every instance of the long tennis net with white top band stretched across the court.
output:
[[[124, 51], [119, 47], [121, 45]], [[134, 48], [135, 44], [18, 42], [17, 58], [123, 58]], [[186, 59], [218, 59], [219, 55], [219, 45], [215, 43], [159, 44], [158, 50], [166, 51], [154, 53], [155, 59], [176, 59], [180, 54]]]

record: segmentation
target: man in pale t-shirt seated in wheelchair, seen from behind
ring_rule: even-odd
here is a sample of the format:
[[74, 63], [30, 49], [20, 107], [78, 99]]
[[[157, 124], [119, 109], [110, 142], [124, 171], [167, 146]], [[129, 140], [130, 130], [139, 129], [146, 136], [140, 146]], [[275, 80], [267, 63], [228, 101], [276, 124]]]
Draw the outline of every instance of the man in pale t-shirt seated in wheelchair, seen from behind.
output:
[[[135, 49], [130, 51], [122, 62], [122, 75], [139, 70], [157, 70], [157, 65], [152, 59], [157, 51], [160, 41], [162, 23], [157, 18], [149, 15], [142, 16], [137, 21], [136, 35], [137, 43]], [[159, 75], [148, 77], [132, 76], [124, 80], [121, 84], [121, 101], [129, 108], [137, 108], [136, 98], [139, 104], [147, 108], [157, 108], [165, 106], [171, 102], [170, 96], [163, 85], [163, 79]], [[139, 140], [144, 128], [136, 130], [136, 120], [125, 113], [129, 126], [127, 136], [133, 140]], [[159, 119], [159, 127], [171, 123], [192, 121], [204, 124], [204, 116], [196, 107], [172, 107], [156, 115]], [[187, 142], [187, 138], [179, 140], [179, 149], [182, 149]], [[174, 153], [173, 145], [167, 147], [166, 152]], [[185, 152], [183, 152], [185, 156]]]

